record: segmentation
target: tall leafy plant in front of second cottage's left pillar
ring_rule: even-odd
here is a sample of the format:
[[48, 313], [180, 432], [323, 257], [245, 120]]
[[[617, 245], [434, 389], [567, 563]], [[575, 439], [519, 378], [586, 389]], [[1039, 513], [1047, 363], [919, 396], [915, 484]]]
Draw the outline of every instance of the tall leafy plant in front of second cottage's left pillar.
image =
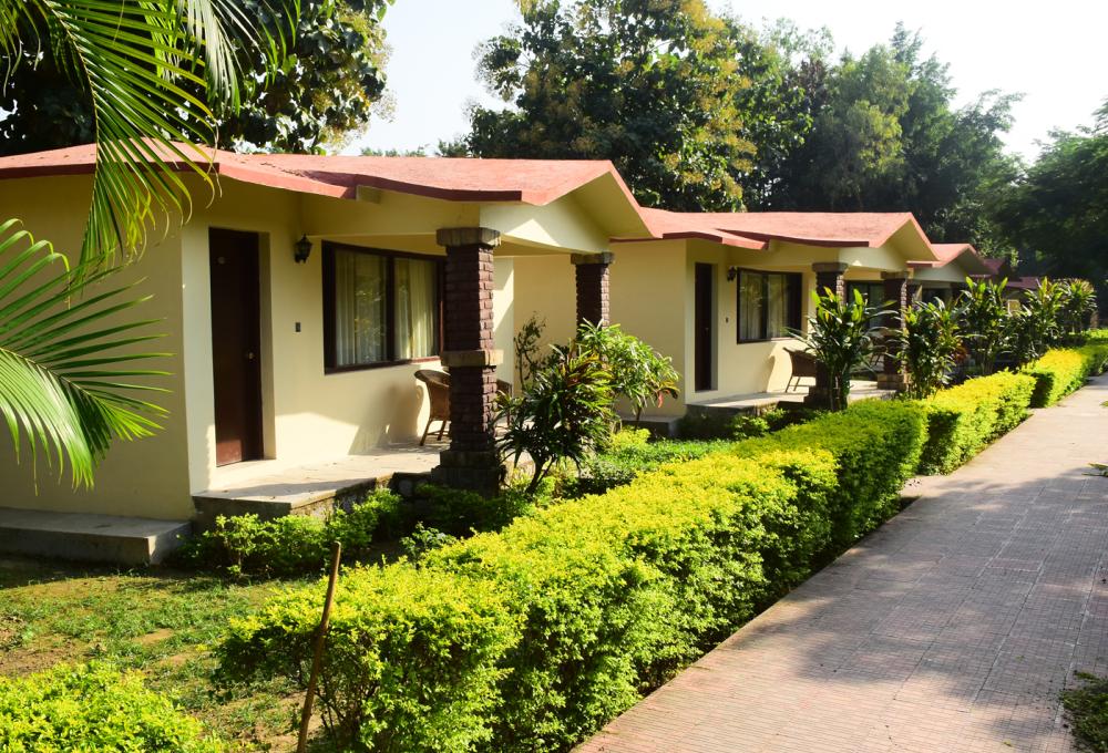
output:
[[830, 288], [812, 292], [814, 314], [808, 318], [808, 330], [790, 333], [804, 343], [825, 372], [828, 408], [841, 411], [850, 398], [850, 374], [874, 351], [882, 310], [866, 306], [861, 291], [840, 299]]

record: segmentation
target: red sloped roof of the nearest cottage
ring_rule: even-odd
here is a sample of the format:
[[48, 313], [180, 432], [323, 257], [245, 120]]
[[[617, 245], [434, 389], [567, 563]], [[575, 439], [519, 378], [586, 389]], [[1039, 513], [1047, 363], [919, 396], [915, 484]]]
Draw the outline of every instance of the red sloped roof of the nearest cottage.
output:
[[[179, 145], [189, 153], [191, 147]], [[544, 205], [609, 175], [636, 209], [638, 203], [607, 159], [478, 159], [345, 157], [310, 154], [236, 154], [205, 149], [211, 169], [227, 177], [288, 190], [352, 198], [371, 186], [449, 202], [522, 202]], [[93, 171], [93, 145], [0, 158], [0, 179]], [[197, 161], [199, 157], [197, 156]], [[183, 161], [171, 162], [184, 168]], [[205, 166], [205, 165], [202, 165]]]

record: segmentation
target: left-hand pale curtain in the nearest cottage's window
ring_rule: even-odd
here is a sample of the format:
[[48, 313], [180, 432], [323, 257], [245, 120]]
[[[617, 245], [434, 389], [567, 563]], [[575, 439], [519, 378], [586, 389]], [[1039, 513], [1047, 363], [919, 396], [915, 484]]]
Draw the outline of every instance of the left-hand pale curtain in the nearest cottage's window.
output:
[[371, 254], [335, 251], [335, 364], [387, 359], [386, 265]]

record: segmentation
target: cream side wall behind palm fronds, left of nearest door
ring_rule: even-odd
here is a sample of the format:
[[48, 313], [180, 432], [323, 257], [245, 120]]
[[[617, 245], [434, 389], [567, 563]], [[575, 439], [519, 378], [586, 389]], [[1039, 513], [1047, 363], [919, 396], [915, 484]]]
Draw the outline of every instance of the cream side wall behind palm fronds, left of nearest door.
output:
[[[75, 258], [89, 206], [89, 186], [88, 176], [0, 180], [0, 215], [22, 218], [25, 229], [35, 238], [51, 240], [55, 250]], [[120, 314], [119, 319], [162, 320], [152, 331], [163, 332], [165, 338], [153, 345], [141, 345], [145, 350], [173, 353], [156, 363], [156, 368], [172, 372], [171, 376], [156, 381], [170, 390], [155, 398], [155, 402], [168, 410], [168, 415], [160, 420], [162, 431], [153, 437], [114, 443], [96, 472], [93, 489], [73, 489], [69, 476], [59, 478], [57, 467], [48, 467], [44, 456], [40, 455], [37, 491], [30, 457], [24, 454], [22, 465], [18, 465], [8, 433], [2, 432], [0, 506], [162, 519], [192, 516], [182, 357], [185, 341], [181, 316], [184, 285], [179, 264], [181, 236], [174, 227], [168, 235], [156, 231], [151, 240], [143, 258], [114, 276], [111, 285], [115, 287], [145, 277], [134, 295], [154, 296], [148, 303]], [[154, 368], [154, 363], [150, 367]]]

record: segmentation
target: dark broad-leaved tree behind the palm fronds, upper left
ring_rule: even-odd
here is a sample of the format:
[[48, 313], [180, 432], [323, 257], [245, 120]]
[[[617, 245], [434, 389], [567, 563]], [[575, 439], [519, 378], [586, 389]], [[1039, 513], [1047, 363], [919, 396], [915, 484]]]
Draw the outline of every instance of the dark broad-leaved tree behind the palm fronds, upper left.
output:
[[[363, 128], [384, 92], [384, 33], [392, 0], [300, 0], [295, 37], [259, 54], [254, 40], [227, 40], [242, 94], [214, 103], [225, 148], [311, 152], [345, 143]], [[218, 4], [218, 0], [216, 0]], [[240, 18], [271, 39], [289, 27], [288, 3], [238, 0]], [[23, 19], [27, 23], [29, 19]], [[39, 25], [43, 19], [37, 19]], [[39, 35], [45, 29], [38, 30]], [[0, 87], [0, 155], [86, 144], [94, 137], [92, 100], [54, 55], [23, 45]], [[183, 81], [201, 101], [204, 83]]]

